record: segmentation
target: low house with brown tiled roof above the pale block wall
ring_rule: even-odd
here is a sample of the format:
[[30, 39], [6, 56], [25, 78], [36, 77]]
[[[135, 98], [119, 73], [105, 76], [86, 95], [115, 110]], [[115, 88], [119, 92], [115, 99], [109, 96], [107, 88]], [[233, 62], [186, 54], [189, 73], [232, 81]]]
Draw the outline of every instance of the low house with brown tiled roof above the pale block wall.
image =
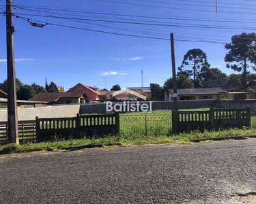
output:
[[85, 92], [40, 92], [29, 101], [43, 101], [48, 104], [85, 103], [89, 101]]

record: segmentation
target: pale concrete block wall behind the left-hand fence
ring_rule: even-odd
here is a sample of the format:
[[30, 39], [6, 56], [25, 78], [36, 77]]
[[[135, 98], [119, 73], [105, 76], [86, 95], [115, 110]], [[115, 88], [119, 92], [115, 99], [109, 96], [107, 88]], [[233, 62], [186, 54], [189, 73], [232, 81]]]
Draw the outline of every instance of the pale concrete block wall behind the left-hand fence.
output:
[[[80, 105], [53, 105], [47, 107], [35, 107], [27, 109], [18, 109], [18, 120], [35, 120], [38, 118], [67, 118], [75, 117], [79, 114]], [[0, 111], [0, 122], [7, 121], [7, 110]]]

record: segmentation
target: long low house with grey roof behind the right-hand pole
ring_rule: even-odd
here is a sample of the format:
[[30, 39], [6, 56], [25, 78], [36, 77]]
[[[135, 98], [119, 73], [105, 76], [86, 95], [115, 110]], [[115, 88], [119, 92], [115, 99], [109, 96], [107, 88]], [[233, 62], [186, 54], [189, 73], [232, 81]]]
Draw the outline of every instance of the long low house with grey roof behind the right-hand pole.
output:
[[[180, 88], [177, 89], [177, 95], [179, 101], [185, 100], [206, 100], [223, 99], [223, 94], [227, 92], [222, 88]], [[165, 101], [173, 101], [173, 89], [169, 89], [165, 92]]]

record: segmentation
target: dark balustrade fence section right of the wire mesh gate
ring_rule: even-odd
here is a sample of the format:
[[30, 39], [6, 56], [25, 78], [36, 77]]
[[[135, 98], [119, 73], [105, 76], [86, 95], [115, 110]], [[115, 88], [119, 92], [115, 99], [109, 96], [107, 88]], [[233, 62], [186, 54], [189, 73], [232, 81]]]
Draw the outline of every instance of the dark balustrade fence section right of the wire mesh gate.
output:
[[242, 128], [251, 126], [250, 107], [240, 109], [213, 109], [210, 111], [175, 112], [173, 110], [173, 133]]

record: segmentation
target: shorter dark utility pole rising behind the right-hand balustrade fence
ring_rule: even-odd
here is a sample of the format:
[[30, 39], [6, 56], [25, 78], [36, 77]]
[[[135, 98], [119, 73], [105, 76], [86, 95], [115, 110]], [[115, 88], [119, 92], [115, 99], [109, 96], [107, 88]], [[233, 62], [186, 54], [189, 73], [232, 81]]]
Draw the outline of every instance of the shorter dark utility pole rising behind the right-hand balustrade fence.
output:
[[173, 67], [173, 101], [174, 111], [177, 112], [177, 80], [176, 80], [176, 67], [175, 67], [175, 52], [174, 52], [174, 39], [173, 33], [171, 33], [171, 63]]

